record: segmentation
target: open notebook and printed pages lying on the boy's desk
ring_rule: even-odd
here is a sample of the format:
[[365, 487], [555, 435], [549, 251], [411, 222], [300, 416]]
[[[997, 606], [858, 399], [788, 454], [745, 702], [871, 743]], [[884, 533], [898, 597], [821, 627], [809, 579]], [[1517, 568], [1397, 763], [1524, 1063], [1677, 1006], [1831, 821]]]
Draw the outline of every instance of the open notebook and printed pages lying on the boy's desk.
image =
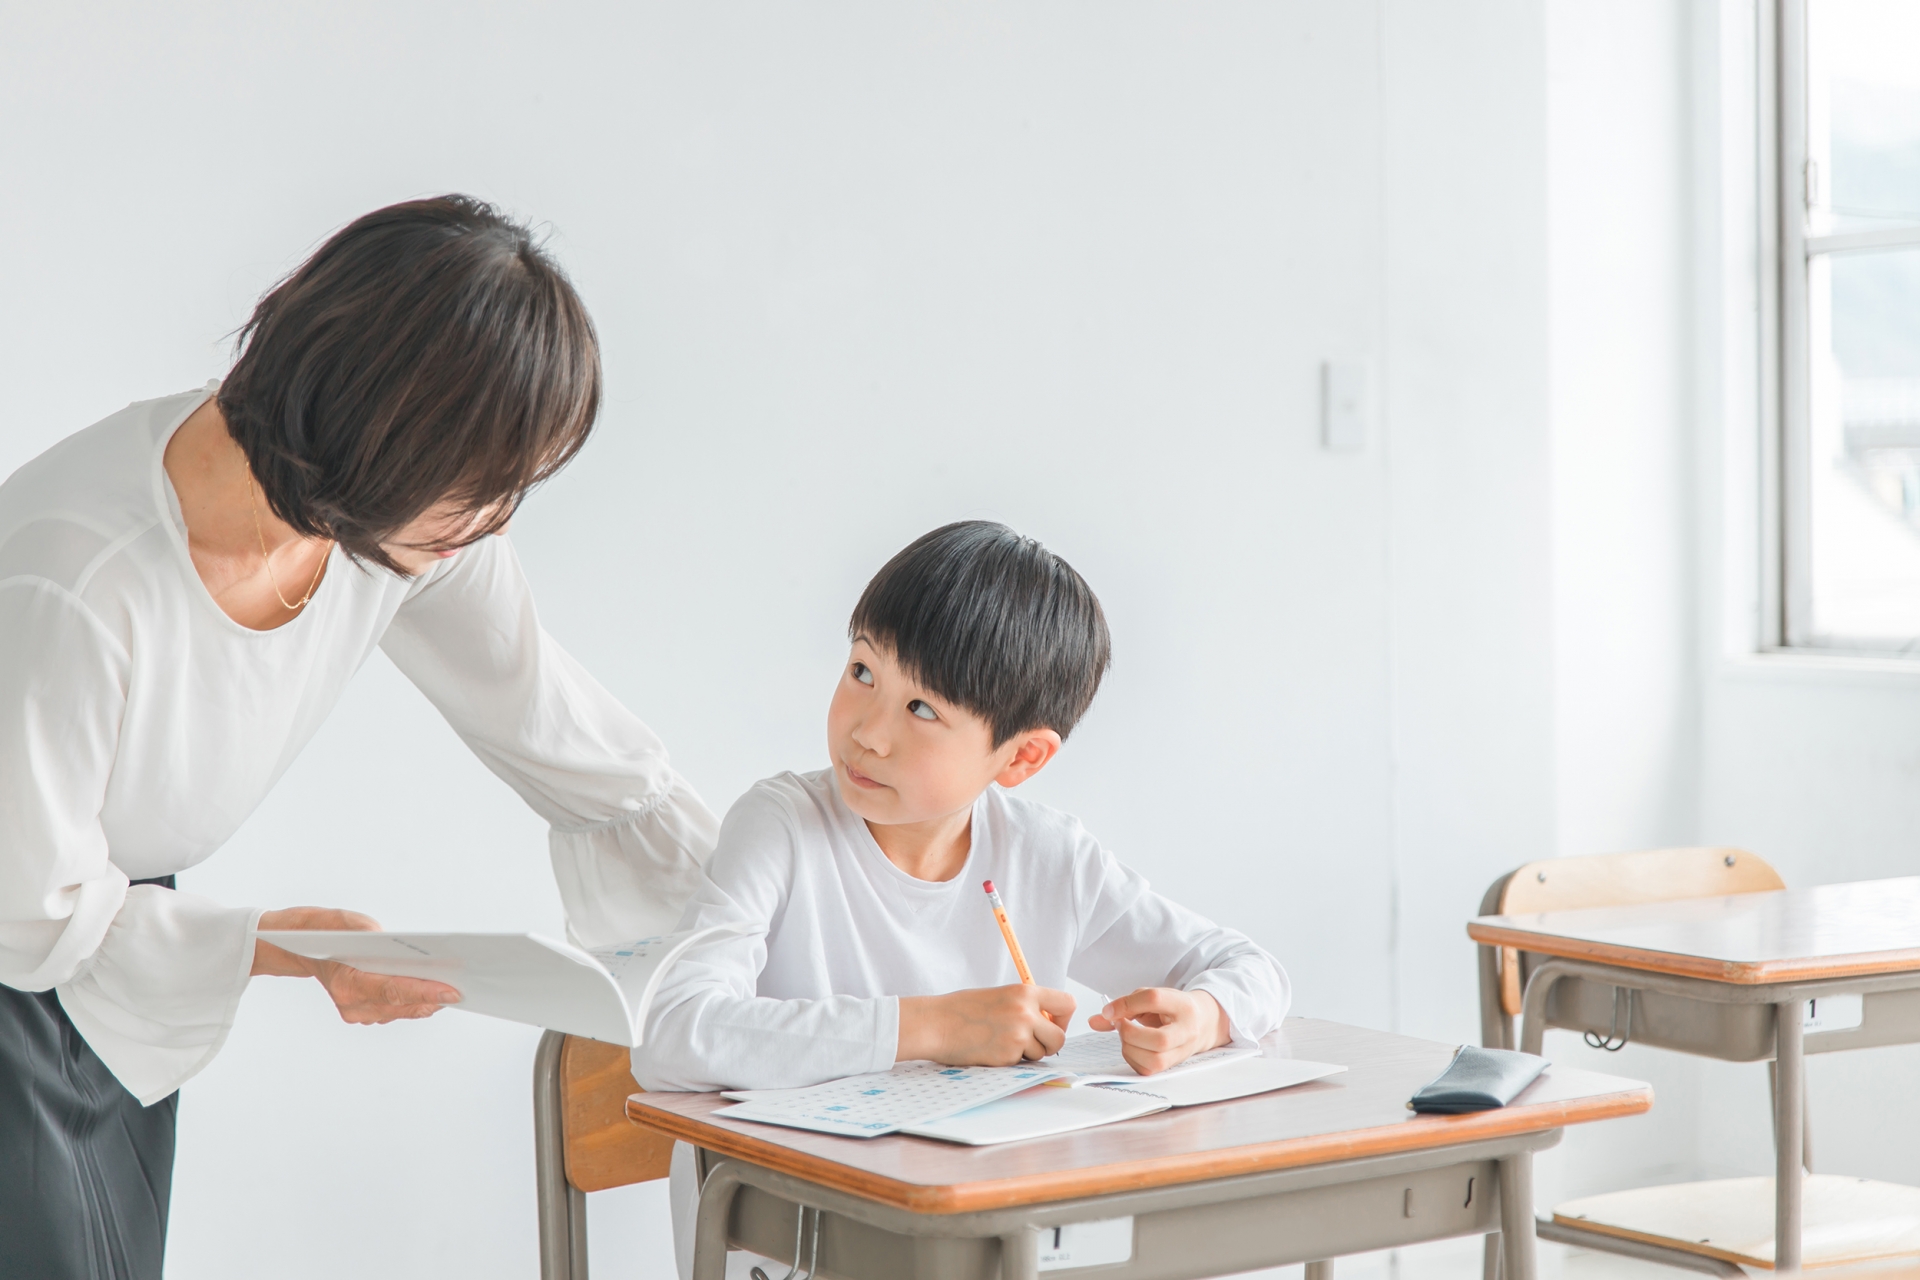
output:
[[854, 1138], [910, 1132], [987, 1146], [1244, 1098], [1338, 1071], [1346, 1067], [1227, 1046], [1142, 1077], [1119, 1055], [1119, 1032], [1096, 1031], [1069, 1038], [1054, 1057], [1018, 1067], [918, 1061], [808, 1088], [732, 1090], [724, 1096], [735, 1105], [714, 1115]]

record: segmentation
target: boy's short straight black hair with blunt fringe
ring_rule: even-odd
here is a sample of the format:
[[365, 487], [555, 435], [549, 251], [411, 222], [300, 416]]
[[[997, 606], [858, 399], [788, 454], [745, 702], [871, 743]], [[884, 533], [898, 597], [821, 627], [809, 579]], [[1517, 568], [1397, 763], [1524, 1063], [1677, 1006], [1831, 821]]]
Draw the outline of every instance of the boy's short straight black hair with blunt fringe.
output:
[[1029, 729], [1066, 739], [1112, 662], [1087, 580], [991, 520], [937, 528], [887, 560], [852, 606], [856, 635], [985, 720], [996, 748]]

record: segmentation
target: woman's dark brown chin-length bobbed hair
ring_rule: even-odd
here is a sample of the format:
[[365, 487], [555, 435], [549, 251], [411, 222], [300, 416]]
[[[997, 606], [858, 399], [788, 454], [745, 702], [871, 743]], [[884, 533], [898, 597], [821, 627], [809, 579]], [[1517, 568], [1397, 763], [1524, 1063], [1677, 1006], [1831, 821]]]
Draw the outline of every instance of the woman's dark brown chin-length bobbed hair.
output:
[[[470, 196], [376, 209], [273, 286], [221, 384], [273, 514], [355, 560], [438, 503], [513, 518], [593, 430], [593, 320], [532, 232]], [[463, 541], [470, 537], [463, 535]]]

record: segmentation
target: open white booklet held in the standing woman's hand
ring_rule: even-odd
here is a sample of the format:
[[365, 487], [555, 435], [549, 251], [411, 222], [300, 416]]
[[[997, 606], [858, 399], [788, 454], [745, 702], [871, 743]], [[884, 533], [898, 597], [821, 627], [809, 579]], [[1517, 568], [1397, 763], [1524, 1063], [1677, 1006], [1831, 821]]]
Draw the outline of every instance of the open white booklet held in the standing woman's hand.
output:
[[461, 992], [449, 1007], [564, 1031], [607, 1044], [639, 1044], [660, 975], [689, 946], [741, 933], [716, 925], [584, 952], [538, 933], [263, 931], [296, 956], [338, 960], [367, 973], [432, 979]]

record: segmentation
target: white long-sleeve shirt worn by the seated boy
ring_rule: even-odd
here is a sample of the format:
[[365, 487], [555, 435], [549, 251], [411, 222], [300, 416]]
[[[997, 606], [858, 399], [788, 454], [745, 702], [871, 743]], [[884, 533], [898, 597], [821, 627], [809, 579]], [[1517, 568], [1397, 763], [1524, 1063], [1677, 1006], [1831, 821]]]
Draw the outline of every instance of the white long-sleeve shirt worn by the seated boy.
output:
[[885, 1071], [900, 996], [1020, 981], [987, 879], [1043, 986], [1204, 990], [1242, 1042], [1286, 1015], [1286, 973], [1271, 956], [1167, 902], [1068, 814], [989, 787], [973, 802], [966, 865], [933, 883], [887, 860], [831, 770], [781, 773], [728, 812], [680, 919], [749, 933], [664, 975], [636, 1079], [651, 1090], [785, 1088]]

